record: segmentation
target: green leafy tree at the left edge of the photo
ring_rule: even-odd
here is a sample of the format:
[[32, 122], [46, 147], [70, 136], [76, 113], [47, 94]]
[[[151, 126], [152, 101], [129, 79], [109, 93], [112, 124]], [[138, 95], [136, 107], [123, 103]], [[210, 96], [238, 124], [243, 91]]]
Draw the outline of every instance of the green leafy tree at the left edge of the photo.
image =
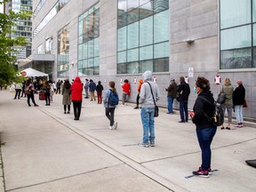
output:
[[[0, 4], [5, 4], [9, 0], [2, 0]], [[31, 12], [12, 12], [8, 14], [0, 12], [0, 85], [20, 82], [20, 73], [15, 71], [14, 64], [16, 57], [11, 56], [12, 46], [24, 46], [28, 43], [25, 37], [19, 36], [11, 38], [12, 27], [16, 21], [26, 19]]]

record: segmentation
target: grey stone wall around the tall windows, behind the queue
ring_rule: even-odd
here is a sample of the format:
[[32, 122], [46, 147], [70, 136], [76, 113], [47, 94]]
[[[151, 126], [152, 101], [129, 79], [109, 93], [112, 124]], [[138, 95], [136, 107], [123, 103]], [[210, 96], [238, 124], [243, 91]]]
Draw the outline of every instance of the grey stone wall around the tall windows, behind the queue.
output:
[[[38, 4], [38, 0], [33, 1]], [[44, 18], [44, 15], [52, 9], [56, 1], [47, 1], [42, 10], [38, 12], [33, 20], [33, 28]], [[53, 37], [52, 51], [56, 56], [53, 79], [57, 80], [57, 34], [60, 28], [69, 23], [70, 28], [70, 55], [69, 55], [69, 79], [77, 76], [77, 35], [78, 17], [87, 11], [98, 1], [70, 0], [66, 6], [42, 29], [33, 39], [32, 50], [44, 43], [46, 36]], [[219, 56], [219, 11], [218, 1], [212, 0], [170, 0], [170, 63], [169, 72], [156, 73], [156, 83], [159, 85], [162, 94], [158, 102], [160, 106], [166, 107], [167, 99], [165, 88], [169, 85], [170, 78], [179, 82], [180, 76], [188, 76], [188, 68], [194, 68], [194, 77], [189, 78], [191, 94], [188, 101], [188, 108], [193, 108], [196, 94], [193, 87], [197, 76], [205, 76], [211, 82], [214, 97], [220, 92], [221, 85], [214, 84], [214, 77], [219, 75], [223, 80], [228, 77], [236, 88], [236, 80], [241, 79], [246, 89], [246, 100], [249, 108], [244, 109], [244, 116], [256, 118], [256, 75], [254, 69], [232, 69], [220, 70]], [[87, 76], [93, 80], [100, 80], [105, 89], [109, 80], [116, 81], [118, 92], [122, 92], [120, 79], [127, 78], [132, 87], [132, 95], [129, 99], [135, 102], [137, 97], [137, 85], [133, 84], [134, 77], [137, 82], [141, 74], [116, 75], [116, 24], [117, 24], [117, 0], [100, 1], [100, 76]], [[193, 43], [186, 41], [194, 40]], [[73, 65], [74, 64], [74, 65]], [[82, 80], [84, 82], [84, 78]], [[106, 80], [106, 84], [105, 84]], [[174, 108], [179, 108], [179, 103], [174, 102]]]

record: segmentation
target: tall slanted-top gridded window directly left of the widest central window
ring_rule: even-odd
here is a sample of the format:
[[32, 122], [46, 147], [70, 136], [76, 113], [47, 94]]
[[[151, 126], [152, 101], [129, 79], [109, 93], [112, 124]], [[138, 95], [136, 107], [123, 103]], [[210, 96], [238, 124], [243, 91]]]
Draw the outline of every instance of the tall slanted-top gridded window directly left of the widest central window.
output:
[[78, 75], [100, 74], [100, 3], [79, 16]]

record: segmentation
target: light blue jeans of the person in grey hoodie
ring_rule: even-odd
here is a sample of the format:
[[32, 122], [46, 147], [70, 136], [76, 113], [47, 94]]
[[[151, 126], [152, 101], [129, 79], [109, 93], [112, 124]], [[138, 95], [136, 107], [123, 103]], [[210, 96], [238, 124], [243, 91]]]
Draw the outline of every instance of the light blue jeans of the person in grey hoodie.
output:
[[143, 143], [155, 141], [155, 108], [141, 108], [140, 116], [143, 126]]

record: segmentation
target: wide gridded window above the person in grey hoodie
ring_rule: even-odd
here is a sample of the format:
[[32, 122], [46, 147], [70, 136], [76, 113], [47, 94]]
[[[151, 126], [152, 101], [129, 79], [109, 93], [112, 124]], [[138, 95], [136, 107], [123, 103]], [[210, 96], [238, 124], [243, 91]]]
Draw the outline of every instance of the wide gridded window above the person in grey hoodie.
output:
[[118, 0], [117, 74], [169, 71], [169, 0]]

